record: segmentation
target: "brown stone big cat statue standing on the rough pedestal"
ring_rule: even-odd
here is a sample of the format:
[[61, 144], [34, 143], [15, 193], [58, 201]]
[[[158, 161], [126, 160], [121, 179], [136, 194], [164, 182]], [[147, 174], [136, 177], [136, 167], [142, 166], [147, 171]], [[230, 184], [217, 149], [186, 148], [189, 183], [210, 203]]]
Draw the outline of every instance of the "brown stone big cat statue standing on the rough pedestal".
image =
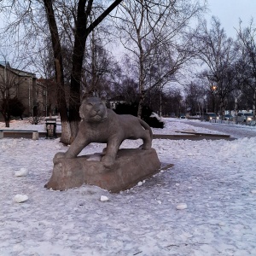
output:
[[114, 113], [100, 98], [84, 98], [79, 115], [82, 121], [77, 137], [66, 153], [55, 154], [54, 162], [58, 158], [75, 158], [90, 143], [107, 143], [101, 159], [106, 167], [113, 165], [119, 146], [125, 139], [141, 138], [141, 148], [151, 148], [153, 133], [146, 122], [130, 114]]

